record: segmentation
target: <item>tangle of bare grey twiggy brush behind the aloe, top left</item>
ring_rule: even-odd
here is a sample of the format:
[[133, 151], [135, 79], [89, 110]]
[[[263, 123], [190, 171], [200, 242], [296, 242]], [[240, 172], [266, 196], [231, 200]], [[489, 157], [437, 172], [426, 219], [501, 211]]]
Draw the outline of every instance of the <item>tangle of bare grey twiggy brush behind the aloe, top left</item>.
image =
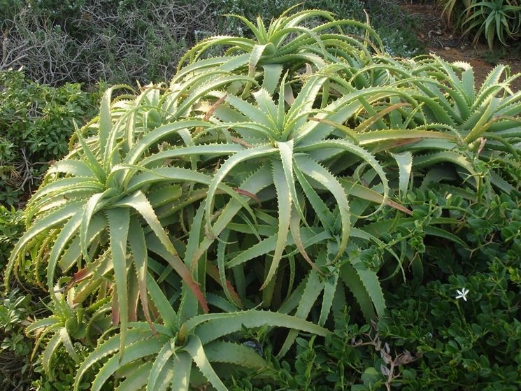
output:
[[[196, 31], [212, 26], [208, 1], [10, 0], [1, 17], [6, 66], [57, 85], [168, 80]], [[210, 31], [204, 33], [209, 34]]]

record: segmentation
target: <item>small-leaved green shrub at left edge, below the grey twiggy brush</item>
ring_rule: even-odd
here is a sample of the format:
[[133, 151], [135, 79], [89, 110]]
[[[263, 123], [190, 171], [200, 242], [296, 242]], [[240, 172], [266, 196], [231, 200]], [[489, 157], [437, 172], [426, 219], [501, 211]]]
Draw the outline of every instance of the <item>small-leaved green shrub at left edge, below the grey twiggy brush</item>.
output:
[[79, 84], [48, 87], [20, 71], [0, 73], [0, 202], [20, 205], [48, 164], [68, 150], [73, 121], [94, 115], [97, 93]]

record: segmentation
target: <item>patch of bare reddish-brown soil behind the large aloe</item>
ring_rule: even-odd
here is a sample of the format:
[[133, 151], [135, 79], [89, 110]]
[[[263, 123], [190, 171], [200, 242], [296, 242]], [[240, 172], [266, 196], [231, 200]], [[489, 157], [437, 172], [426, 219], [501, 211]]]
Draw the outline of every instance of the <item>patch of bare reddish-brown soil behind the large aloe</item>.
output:
[[[461, 38], [459, 33], [451, 31], [441, 17], [441, 10], [432, 3], [411, 4], [409, 1], [404, 1], [401, 7], [420, 21], [418, 38], [428, 52], [434, 52], [452, 62], [469, 62], [474, 69], [476, 85], [483, 83], [487, 74], [495, 66], [483, 59], [483, 53], [489, 50], [487, 45], [482, 43], [472, 45], [468, 39]], [[521, 73], [521, 53], [511, 58], [501, 59], [499, 63], [510, 66], [512, 73]], [[514, 80], [512, 87], [515, 91], [521, 90], [521, 75]]]

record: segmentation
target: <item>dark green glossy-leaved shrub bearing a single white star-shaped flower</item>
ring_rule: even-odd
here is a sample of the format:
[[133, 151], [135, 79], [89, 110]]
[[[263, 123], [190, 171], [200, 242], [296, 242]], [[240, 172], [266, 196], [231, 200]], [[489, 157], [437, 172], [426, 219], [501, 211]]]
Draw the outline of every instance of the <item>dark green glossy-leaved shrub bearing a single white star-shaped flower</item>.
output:
[[[276, 360], [269, 341], [257, 336], [276, 378], [269, 385], [262, 372], [231, 378], [229, 389], [385, 390], [387, 383], [411, 391], [517, 390], [520, 194], [501, 194], [483, 206], [448, 197], [453, 190], [435, 185], [409, 194], [409, 208], [429, 199], [438, 214], [457, 217], [450, 231], [465, 243], [425, 239], [406, 269], [407, 280], [385, 285], [388, 311], [378, 325], [359, 327], [359, 318], [348, 311], [336, 318], [334, 334], [323, 342], [298, 339], [285, 361]], [[422, 234], [428, 231], [420, 225]], [[415, 240], [402, 243], [414, 246]], [[390, 360], [397, 365], [391, 367]]]

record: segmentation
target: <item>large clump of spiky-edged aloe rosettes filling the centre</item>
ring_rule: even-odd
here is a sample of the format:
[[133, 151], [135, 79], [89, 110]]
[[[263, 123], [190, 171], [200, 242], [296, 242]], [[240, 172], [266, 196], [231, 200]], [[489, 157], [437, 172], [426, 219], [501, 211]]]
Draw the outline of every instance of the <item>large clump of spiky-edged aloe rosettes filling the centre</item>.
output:
[[[283, 356], [299, 331], [327, 335], [350, 297], [368, 320], [385, 311], [381, 275], [404, 275], [415, 258], [385, 241], [397, 222], [414, 226], [400, 204], [412, 187], [512, 188], [479, 178], [483, 148], [482, 158], [517, 154], [520, 95], [496, 76], [476, 94], [465, 66], [391, 59], [371, 28], [324, 11], [268, 28], [243, 21], [255, 39], [199, 43], [169, 87], [108, 90], [27, 206], [8, 275], [27, 254], [36, 280], [45, 264], [62, 309], [31, 331], [38, 343], [52, 335], [49, 359], [64, 343], [80, 361], [71, 339], [92, 348], [76, 389], [101, 365], [94, 390], [116, 372], [119, 390], [187, 390], [203, 378], [225, 390], [230, 371], [210, 362], [268, 365], [241, 343], [243, 327], [266, 327]], [[215, 45], [227, 52], [203, 58]], [[367, 224], [383, 208], [401, 216]], [[456, 241], [434, 227], [453, 222], [432, 219], [426, 232]]]

